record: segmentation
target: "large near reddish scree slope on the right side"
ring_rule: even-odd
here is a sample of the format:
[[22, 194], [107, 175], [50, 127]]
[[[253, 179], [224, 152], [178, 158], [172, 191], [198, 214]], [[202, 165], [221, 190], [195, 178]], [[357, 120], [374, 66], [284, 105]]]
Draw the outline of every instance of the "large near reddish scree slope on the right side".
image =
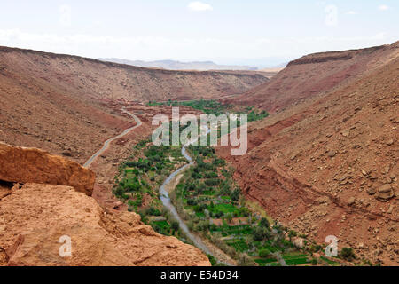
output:
[[[372, 52], [372, 51], [371, 51]], [[321, 243], [399, 264], [399, 58], [340, 90], [249, 127], [249, 150], [231, 157], [246, 197]]]

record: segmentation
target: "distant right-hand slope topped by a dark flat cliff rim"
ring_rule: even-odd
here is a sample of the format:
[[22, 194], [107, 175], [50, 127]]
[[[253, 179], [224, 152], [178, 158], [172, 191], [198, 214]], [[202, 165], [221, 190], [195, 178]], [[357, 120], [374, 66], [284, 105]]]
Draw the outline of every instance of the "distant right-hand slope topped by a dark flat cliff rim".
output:
[[362, 50], [315, 53], [293, 60], [270, 82], [226, 102], [277, 112], [356, 80], [399, 54], [399, 42]]

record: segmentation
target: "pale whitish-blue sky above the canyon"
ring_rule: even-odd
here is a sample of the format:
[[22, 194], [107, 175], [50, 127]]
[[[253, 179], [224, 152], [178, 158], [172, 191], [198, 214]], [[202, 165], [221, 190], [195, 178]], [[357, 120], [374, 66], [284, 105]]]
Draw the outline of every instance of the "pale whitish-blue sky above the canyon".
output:
[[0, 45], [272, 67], [399, 40], [397, 0], [0, 0]]

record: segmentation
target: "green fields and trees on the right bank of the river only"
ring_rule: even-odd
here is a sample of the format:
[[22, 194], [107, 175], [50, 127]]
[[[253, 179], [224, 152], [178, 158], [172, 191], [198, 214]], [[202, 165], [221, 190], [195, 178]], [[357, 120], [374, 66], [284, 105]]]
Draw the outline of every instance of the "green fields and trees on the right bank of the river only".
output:
[[[209, 146], [189, 146], [196, 162], [170, 194], [180, 216], [193, 232], [212, 241], [242, 265], [279, 265], [274, 253], [292, 253], [292, 265], [309, 263], [307, 255], [286, 241], [286, 228], [271, 228], [265, 217], [254, 216], [240, 198], [233, 169]], [[209, 222], [211, 221], [211, 222]]]

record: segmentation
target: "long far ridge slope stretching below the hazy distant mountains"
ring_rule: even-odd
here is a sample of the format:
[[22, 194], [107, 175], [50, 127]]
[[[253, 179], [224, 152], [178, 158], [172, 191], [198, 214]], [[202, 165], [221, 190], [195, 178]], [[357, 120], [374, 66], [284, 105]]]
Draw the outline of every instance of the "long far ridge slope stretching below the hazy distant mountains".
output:
[[[96, 99], [145, 102], [214, 99], [247, 91], [268, 81], [262, 72], [171, 71], [133, 67], [96, 59], [0, 48], [0, 63], [58, 86], [66, 93]], [[73, 90], [70, 90], [73, 88]]]

